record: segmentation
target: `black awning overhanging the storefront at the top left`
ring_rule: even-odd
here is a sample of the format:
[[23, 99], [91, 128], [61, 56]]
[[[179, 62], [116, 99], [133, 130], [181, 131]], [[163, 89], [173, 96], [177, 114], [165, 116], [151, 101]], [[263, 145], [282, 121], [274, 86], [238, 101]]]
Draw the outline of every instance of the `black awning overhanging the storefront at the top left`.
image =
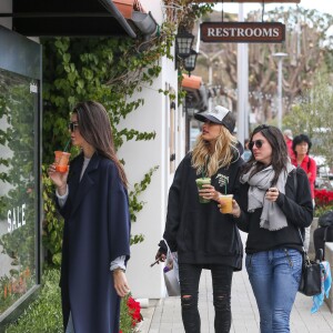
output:
[[0, 17], [12, 17], [12, 30], [29, 37], [135, 38], [138, 27], [128, 19], [138, 12], [145, 14], [139, 0], [12, 0], [12, 12]]

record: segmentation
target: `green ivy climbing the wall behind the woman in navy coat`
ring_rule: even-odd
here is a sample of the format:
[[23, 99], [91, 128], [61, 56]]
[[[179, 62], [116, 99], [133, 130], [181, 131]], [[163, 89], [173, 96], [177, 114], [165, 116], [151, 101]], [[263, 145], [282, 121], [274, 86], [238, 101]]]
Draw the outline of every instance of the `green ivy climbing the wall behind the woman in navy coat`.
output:
[[[165, 1], [168, 2], [168, 1]], [[191, 20], [211, 9], [212, 4], [192, 6], [180, 1]], [[169, 7], [168, 12], [172, 12]], [[179, 9], [176, 9], [179, 10]], [[179, 16], [179, 18], [183, 18]], [[117, 125], [129, 113], [144, 104], [143, 99], [133, 100], [142, 85], [152, 84], [161, 73], [161, 57], [173, 58], [171, 47], [179, 21], [167, 18], [159, 32], [149, 41], [130, 38], [46, 38], [43, 46], [43, 240], [49, 252], [49, 261], [61, 261], [61, 234], [63, 221], [53, 205], [53, 186], [46, 173], [53, 161], [53, 151], [65, 147], [69, 133], [67, 123], [70, 112], [79, 101], [95, 100], [109, 112], [115, 148], [124, 141], [153, 140], [155, 132], [140, 132], [135, 129], [118, 131]], [[165, 93], [165, 92], [164, 92]], [[75, 154], [75, 151], [71, 151]], [[143, 180], [134, 184], [130, 192], [132, 221], [143, 208], [139, 194], [151, 182], [152, 168]], [[143, 235], [132, 236], [132, 243], [143, 240]]]

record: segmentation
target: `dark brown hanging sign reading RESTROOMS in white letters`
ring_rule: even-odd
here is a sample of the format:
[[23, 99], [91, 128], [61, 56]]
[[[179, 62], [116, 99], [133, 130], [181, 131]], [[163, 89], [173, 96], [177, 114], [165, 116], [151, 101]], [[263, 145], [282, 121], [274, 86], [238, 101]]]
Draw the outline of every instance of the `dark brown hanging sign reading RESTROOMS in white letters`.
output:
[[285, 26], [280, 22], [203, 22], [200, 24], [204, 42], [281, 43]]

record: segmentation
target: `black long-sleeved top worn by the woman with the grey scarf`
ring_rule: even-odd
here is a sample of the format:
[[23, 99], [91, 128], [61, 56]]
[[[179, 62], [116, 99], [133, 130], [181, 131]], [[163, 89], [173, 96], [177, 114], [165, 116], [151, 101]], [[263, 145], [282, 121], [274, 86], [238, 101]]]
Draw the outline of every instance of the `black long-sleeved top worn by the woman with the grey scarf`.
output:
[[311, 190], [304, 170], [297, 168], [292, 171], [286, 180], [285, 194], [280, 193], [278, 196], [276, 203], [287, 221], [287, 226], [281, 230], [269, 231], [260, 226], [262, 209], [256, 209], [253, 213], [248, 212], [248, 191], [249, 184], [241, 184], [241, 191], [235, 199], [242, 213], [239, 219], [234, 219], [240, 230], [249, 233], [245, 252], [250, 254], [278, 248], [302, 251], [299, 228], [304, 235], [304, 228], [311, 225], [313, 219]]

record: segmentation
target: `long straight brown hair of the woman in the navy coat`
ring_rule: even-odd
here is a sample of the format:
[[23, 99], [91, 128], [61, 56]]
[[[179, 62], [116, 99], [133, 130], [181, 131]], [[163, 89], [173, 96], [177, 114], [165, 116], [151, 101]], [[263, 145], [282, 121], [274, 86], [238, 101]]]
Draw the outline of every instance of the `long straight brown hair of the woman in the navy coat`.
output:
[[123, 185], [128, 186], [128, 179], [120, 163], [113, 143], [111, 123], [105, 108], [93, 101], [80, 102], [75, 105], [80, 134], [99, 154], [111, 160], [119, 172]]

